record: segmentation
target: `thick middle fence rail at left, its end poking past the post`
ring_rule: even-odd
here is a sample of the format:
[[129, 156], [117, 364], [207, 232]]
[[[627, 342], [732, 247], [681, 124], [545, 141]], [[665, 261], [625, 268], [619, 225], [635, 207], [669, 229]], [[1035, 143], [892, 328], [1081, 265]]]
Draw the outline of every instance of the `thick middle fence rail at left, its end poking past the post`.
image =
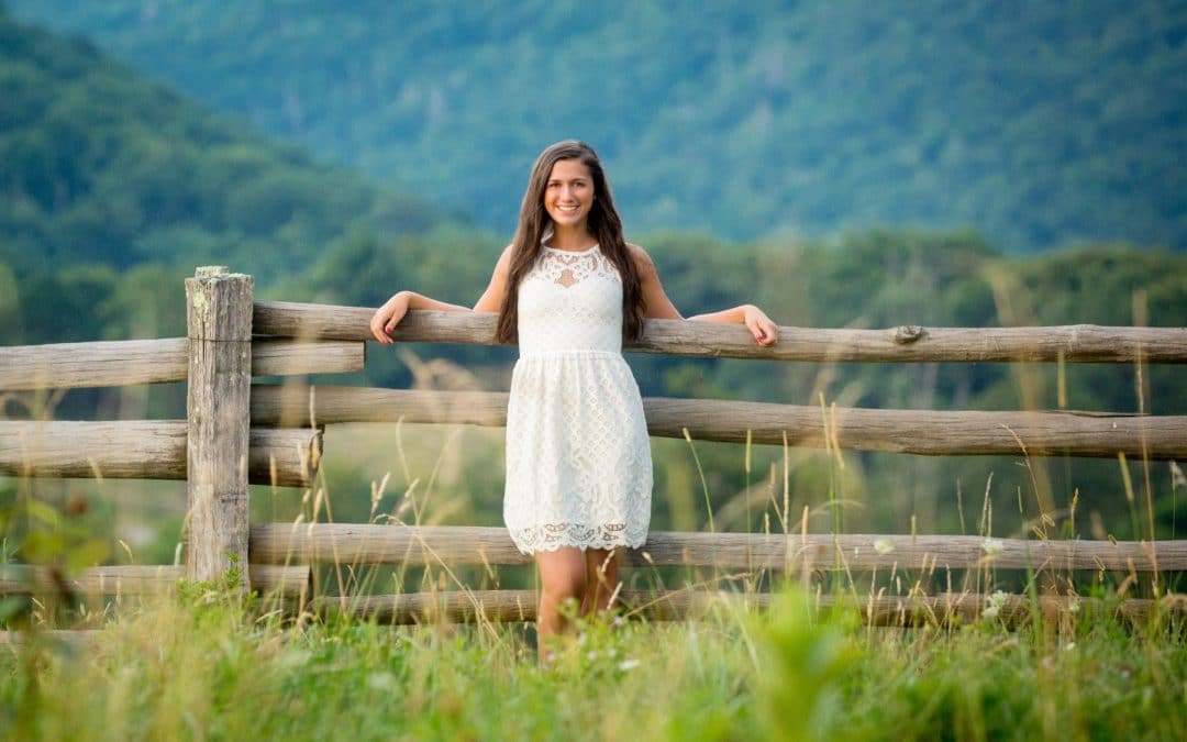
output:
[[[307, 486], [320, 450], [319, 430], [253, 429], [248, 477], [260, 484]], [[186, 421], [0, 420], [0, 474], [184, 480]]]

